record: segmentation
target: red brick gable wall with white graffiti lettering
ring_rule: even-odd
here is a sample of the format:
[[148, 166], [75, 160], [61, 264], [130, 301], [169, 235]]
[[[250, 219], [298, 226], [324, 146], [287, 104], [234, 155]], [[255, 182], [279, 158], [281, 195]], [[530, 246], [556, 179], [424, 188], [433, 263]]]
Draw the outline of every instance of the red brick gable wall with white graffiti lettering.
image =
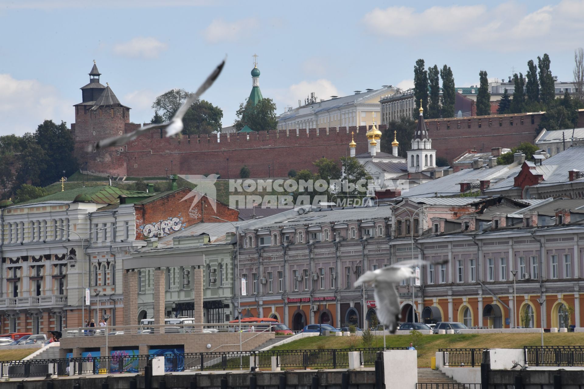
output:
[[203, 196], [191, 209], [194, 197], [181, 201], [189, 193], [189, 188], [183, 188], [148, 204], [137, 204], [135, 206], [136, 239], [157, 237], [158, 232], [167, 236], [203, 221], [221, 222], [221, 220], [211, 218], [211, 216], [237, 222], [237, 209], [215, 202], [216, 211], [214, 211], [206, 196]]

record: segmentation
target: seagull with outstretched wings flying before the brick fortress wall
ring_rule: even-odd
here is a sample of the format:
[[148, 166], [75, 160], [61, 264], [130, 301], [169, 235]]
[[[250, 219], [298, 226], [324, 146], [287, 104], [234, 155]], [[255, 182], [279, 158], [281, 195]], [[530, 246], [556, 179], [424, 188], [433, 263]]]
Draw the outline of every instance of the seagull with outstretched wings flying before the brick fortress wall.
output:
[[225, 59], [215, 68], [213, 73], [207, 77], [203, 85], [197, 89], [197, 92], [190, 94], [189, 97], [186, 98], [185, 102], [180, 106], [180, 108], [176, 111], [170, 121], [159, 123], [159, 124], [148, 124], [143, 127], [138, 128], [136, 131], [130, 132], [128, 134], [119, 135], [119, 136], [112, 136], [110, 138], [102, 139], [101, 141], [94, 143], [89, 146], [88, 151], [92, 152], [93, 150], [103, 149], [109, 146], [121, 146], [125, 145], [127, 142], [133, 141], [138, 136], [144, 134], [151, 129], [166, 129], [166, 136], [173, 136], [179, 134], [180, 131], [183, 129], [183, 117], [186, 114], [186, 111], [189, 110], [190, 106], [199, 99], [199, 96], [203, 94], [211, 85], [223, 69], [223, 65], [225, 65]]

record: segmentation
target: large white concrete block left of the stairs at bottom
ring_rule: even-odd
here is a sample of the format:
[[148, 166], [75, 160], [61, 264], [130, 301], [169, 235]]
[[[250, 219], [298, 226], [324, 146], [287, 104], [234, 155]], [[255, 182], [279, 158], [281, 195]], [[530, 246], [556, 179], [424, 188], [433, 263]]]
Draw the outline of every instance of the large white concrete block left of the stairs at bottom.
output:
[[418, 382], [417, 351], [384, 351], [383, 368], [386, 377], [386, 389], [416, 389], [416, 383]]

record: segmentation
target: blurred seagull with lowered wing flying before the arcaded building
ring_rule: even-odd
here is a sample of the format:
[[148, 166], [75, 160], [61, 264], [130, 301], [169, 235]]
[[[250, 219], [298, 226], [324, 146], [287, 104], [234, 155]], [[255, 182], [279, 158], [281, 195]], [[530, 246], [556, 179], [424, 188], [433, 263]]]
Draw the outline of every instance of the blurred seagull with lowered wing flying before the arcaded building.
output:
[[377, 305], [377, 318], [392, 334], [398, 329], [399, 320], [399, 296], [395, 285], [404, 279], [412, 278], [416, 274], [412, 267], [422, 265], [440, 265], [447, 261], [422, 261], [409, 260], [397, 262], [385, 268], [367, 271], [355, 281], [355, 286], [373, 285], [375, 302]]

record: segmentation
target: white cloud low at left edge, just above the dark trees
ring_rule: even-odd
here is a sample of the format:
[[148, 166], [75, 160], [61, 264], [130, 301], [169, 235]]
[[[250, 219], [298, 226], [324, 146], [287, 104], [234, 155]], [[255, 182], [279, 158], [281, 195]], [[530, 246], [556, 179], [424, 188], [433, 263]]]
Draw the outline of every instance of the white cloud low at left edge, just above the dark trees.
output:
[[73, 101], [63, 99], [53, 85], [37, 80], [17, 80], [0, 74], [0, 135], [34, 132], [39, 124], [50, 119], [60, 123], [74, 117]]

